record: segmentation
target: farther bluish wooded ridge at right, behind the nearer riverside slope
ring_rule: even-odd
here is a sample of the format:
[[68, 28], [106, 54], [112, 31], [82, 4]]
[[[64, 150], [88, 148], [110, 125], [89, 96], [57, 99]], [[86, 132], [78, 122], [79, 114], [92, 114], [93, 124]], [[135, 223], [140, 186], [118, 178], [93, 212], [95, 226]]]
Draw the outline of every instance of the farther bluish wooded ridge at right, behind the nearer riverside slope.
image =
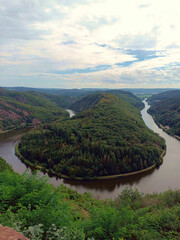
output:
[[150, 105], [154, 105], [159, 103], [160, 101], [164, 101], [171, 98], [179, 98], [180, 97], [180, 90], [171, 90], [166, 91], [158, 94], [152, 95], [152, 97], [148, 98]]

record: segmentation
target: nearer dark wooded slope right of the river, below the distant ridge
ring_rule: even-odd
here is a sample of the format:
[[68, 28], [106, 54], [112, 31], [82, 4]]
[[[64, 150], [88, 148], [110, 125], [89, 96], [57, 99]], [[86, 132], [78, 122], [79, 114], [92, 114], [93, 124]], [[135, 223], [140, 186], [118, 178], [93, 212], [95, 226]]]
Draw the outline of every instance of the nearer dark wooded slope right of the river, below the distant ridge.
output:
[[154, 104], [148, 112], [163, 130], [180, 140], [180, 96], [161, 100]]

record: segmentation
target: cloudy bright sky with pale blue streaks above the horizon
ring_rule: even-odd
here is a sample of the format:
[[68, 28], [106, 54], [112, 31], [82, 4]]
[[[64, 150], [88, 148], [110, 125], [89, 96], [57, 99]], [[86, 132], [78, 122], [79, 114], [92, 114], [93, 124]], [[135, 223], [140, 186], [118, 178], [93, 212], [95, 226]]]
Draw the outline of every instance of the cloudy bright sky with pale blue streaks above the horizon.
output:
[[179, 0], [0, 0], [0, 86], [180, 88]]

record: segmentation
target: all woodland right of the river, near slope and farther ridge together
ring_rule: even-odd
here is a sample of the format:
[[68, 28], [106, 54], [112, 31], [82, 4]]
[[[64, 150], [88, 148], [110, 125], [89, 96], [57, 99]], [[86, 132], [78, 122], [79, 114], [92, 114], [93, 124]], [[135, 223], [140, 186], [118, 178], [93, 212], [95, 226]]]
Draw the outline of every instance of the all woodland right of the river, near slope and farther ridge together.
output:
[[156, 123], [180, 140], [180, 90], [156, 94], [148, 100], [152, 104], [148, 112]]

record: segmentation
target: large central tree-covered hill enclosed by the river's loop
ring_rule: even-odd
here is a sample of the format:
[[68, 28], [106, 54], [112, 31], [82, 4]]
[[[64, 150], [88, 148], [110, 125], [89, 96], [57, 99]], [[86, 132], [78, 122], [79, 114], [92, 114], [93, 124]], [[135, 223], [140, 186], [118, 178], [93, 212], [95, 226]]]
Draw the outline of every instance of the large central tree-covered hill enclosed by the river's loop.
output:
[[84, 179], [159, 163], [164, 140], [145, 126], [139, 109], [113, 94], [96, 97], [97, 103], [75, 117], [25, 134], [21, 155], [58, 176]]

